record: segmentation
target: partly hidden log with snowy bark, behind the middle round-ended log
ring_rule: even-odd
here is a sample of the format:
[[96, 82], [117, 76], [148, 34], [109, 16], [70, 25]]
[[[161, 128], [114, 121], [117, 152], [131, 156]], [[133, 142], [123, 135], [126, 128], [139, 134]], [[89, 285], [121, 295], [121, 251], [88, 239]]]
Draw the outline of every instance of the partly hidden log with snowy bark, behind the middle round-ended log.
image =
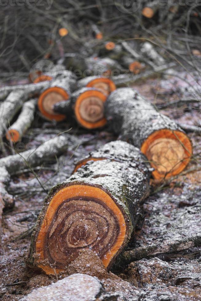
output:
[[78, 88], [89, 87], [102, 91], [104, 94], [109, 95], [116, 89], [116, 85], [110, 78], [103, 76], [88, 76], [79, 80], [77, 83]]

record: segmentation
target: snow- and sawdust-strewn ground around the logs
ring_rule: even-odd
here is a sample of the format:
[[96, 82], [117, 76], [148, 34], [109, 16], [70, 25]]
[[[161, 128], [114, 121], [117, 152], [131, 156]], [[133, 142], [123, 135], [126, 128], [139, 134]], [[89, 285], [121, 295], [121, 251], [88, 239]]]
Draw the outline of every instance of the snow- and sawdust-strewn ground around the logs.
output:
[[[175, 76], [152, 78], [132, 84], [136, 90], [154, 104], [179, 99], [181, 87], [185, 87], [190, 75], [177, 72]], [[199, 105], [189, 104], [180, 108], [162, 111], [177, 122], [196, 125], [201, 113]], [[66, 123], [57, 125], [45, 122], [39, 116], [26, 133], [23, 142], [28, 147], [37, 147], [53, 138], [58, 132], [70, 129]], [[116, 137], [104, 128], [102, 131], [87, 132], [79, 127], [69, 130], [88, 142], [66, 150], [56, 162], [35, 169], [37, 177], [30, 171], [12, 177], [9, 193], [16, 197], [15, 207], [3, 215], [2, 252], [0, 256], [0, 298], [18, 300], [34, 287], [56, 281], [56, 276], [38, 276], [39, 272], [27, 268], [23, 259], [30, 245], [31, 230], [42, 208], [45, 189], [68, 178], [73, 171], [74, 159], [80, 159], [97, 147], [115, 140]], [[134, 233], [129, 247], [172, 241], [201, 232], [201, 137], [190, 133], [194, 146], [194, 158], [187, 169], [191, 173], [180, 175], [163, 186], [152, 180], [151, 195], [145, 200], [144, 220]], [[11, 150], [7, 149], [10, 154]], [[42, 185], [40, 185], [42, 183]], [[97, 275], [98, 276], [98, 275]], [[191, 248], [179, 254], [136, 261], [122, 269], [118, 275], [135, 287], [125, 285], [117, 291], [119, 300], [201, 300], [201, 248]], [[124, 283], [124, 282], [123, 282]], [[103, 281], [107, 291], [112, 290]], [[123, 288], [124, 286], [124, 288]]]

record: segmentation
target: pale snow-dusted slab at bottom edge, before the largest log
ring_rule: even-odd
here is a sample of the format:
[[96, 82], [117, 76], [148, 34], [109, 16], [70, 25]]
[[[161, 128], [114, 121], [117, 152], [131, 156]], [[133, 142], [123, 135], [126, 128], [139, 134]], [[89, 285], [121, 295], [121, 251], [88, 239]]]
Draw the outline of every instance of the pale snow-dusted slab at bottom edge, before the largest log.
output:
[[115, 301], [116, 293], [106, 293], [97, 277], [73, 274], [45, 287], [34, 289], [21, 301]]

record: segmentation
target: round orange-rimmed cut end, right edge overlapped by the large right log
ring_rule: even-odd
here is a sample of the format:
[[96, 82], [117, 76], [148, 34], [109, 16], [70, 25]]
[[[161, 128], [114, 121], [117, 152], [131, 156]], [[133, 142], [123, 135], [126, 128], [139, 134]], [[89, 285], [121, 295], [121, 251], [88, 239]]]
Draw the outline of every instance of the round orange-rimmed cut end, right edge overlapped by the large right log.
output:
[[107, 96], [97, 90], [89, 90], [78, 96], [74, 107], [77, 122], [88, 129], [103, 127], [107, 122], [104, 118], [106, 99]]

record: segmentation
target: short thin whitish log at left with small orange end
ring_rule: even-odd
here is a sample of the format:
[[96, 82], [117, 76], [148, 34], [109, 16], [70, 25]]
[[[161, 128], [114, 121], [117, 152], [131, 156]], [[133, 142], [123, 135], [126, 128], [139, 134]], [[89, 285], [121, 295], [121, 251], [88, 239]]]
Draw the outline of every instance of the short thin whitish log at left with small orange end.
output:
[[6, 139], [12, 142], [18, 142], [22, 139], [24, 133], [30, 128], [34, 120], [36, 99], [26, 101], [18, 119], [12, 124], [6, 133]]

